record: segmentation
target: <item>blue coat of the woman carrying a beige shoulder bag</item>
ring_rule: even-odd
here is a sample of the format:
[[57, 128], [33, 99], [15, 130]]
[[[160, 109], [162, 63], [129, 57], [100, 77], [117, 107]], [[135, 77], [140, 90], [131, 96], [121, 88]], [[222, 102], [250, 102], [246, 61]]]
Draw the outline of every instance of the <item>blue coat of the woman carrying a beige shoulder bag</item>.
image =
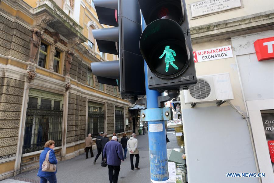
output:
[[57, 164], [57, 162], [58, 162], [56, 157], [55, 157], [54, 150], [49, 148], [49, 147], [45, 147], [44, 151], [42, 151], [41, 154], [40, 154], [40, 160], [39, 160], [40, 165], [39, 165], [39, 170], [38, 170], [38, 174], [37, 174], [37, 176], [39, 176], [39, 177], [48, 177], [48, 176], [56, 174], [56, 172], [57, 172], [57, 168], [56, 168], [55, 172], [44, 172], [44, 171], [42, 171], [42, 164], [43, 164], [44, 160], [46, 159], [48, 151], [50, 151], [48, 161], [51, 164]]

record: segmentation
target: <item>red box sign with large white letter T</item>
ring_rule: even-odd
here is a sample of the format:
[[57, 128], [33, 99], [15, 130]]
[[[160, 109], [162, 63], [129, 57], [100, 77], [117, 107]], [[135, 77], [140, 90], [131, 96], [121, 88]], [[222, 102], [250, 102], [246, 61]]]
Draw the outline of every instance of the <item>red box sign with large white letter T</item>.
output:
[[274, 59], [274, 37], [257, 39], [254, 48], [258, 61]]

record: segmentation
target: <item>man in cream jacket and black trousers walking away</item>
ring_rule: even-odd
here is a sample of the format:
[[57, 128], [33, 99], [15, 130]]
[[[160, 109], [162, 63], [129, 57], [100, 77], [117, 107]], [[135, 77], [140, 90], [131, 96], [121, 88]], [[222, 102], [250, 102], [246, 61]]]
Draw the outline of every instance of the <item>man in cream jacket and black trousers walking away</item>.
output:
[[[140, 170], [139, 166], [139, 150], [138, 150], [138, 140], [136, 139], [136, 134], [133, 133], [131, 137], [128, 139], [127, 148], [129, 150], [129, 156], [130, 156], [130, 165], [131, 170], [137, 169]], [[135, 166], [133, 167], [133, 157], [136, 157]]]

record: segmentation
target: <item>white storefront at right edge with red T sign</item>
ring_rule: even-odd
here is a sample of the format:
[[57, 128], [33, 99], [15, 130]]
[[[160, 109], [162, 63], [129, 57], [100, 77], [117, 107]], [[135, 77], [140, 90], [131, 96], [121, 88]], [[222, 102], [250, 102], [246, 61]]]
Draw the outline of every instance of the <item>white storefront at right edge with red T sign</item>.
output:
[[[231, 38], [260, 172], [274, 171], [274, 31]], [[242, 48], [244, 46], [244, 49]], [[241, 48], [241, 49], [240, 49]], [[273, 150], [272, 150], [273, 149]], [[273, 176], [262, 178], [272, 182]]]

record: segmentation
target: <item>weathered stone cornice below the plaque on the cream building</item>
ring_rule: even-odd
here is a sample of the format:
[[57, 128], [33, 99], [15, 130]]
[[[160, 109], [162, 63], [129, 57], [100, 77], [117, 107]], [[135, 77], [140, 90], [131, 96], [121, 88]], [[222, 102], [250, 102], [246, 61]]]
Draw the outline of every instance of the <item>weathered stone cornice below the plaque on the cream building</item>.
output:
[[191, 27], [191, 42], [227, 39], [274, 28], [274, 10]]

